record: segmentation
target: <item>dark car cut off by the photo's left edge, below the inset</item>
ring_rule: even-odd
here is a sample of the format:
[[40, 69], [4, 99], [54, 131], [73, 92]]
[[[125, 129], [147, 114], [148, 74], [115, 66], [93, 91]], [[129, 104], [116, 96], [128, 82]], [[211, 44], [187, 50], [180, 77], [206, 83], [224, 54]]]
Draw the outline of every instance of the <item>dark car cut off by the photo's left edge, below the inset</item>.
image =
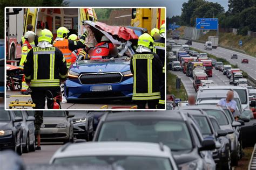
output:
[[22, 154], [22, 117], [15, 116], [13, 111], [0, 108], [0, 150], [12, 149]]

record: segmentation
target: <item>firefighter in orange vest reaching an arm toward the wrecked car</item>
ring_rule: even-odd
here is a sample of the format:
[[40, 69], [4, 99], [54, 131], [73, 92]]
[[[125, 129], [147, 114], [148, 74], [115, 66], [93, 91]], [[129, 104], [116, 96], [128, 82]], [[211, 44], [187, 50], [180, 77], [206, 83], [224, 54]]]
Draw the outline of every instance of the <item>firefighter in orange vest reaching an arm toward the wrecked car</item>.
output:
[[79, 41], [73, 41], [68, 39], [69, 30], [66, 27], [59, 27], [57, 30], [57, 38], [53, 42], [53, 46], [59, 48], [62, 51], [65, 59], [66, 66], [69, 68], [71, 66], [71, 53], [75, 49], [84, 48], [84, 40], [88, 36], [88, 31], [86, 30], [84, 34], [80, 37]]

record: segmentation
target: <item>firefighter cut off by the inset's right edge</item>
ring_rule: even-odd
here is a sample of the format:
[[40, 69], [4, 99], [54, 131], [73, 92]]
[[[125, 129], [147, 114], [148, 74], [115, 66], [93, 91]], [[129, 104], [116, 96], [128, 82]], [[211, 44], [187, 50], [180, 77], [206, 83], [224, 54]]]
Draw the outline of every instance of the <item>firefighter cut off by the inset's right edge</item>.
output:
[[[161, 25], [160, 27], [160, 39], [154, 41], [154, 52], [157, 53], [159, 56], [161, 62], [163, 63], [163, 81], [165, 80], [165, 24]], [[159, 100], [158, 108], [159, 109], [164, 109], [165, 107], [165, 86], [160, 87], [161, 91], [161, 99]]]

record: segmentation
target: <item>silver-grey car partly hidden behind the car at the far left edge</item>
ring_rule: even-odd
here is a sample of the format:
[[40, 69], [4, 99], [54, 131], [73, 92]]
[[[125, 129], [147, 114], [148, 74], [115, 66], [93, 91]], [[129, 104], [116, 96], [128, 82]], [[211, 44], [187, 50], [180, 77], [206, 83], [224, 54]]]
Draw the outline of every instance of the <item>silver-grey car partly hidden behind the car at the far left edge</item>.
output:
[[23, 153], [29, 151], [35, 151], [36, 139], [35, 139], [35, 117], [29, 116], [26, 111], [14, 111], [15, 116], [22, 117], [22, 147]]

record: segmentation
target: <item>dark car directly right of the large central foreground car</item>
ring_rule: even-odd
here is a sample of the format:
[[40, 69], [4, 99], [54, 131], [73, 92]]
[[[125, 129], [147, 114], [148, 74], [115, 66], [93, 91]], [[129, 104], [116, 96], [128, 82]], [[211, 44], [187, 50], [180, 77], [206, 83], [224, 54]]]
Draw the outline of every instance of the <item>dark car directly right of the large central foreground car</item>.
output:
[[205, 139], [212, 138], [215, 141], [217, 149], [212, 151], [212, 156], [217, 164], [217, 168], [231, 170], [231, 149], [230, 141], [226, 137], [227, 132], [220, 129], [219, 123], [214, 117], [211, 117], [212, 120], [210, 120], [210, 116], [208, 116], [203, 110], [186, 111], [196, 120], [203, 137]]

